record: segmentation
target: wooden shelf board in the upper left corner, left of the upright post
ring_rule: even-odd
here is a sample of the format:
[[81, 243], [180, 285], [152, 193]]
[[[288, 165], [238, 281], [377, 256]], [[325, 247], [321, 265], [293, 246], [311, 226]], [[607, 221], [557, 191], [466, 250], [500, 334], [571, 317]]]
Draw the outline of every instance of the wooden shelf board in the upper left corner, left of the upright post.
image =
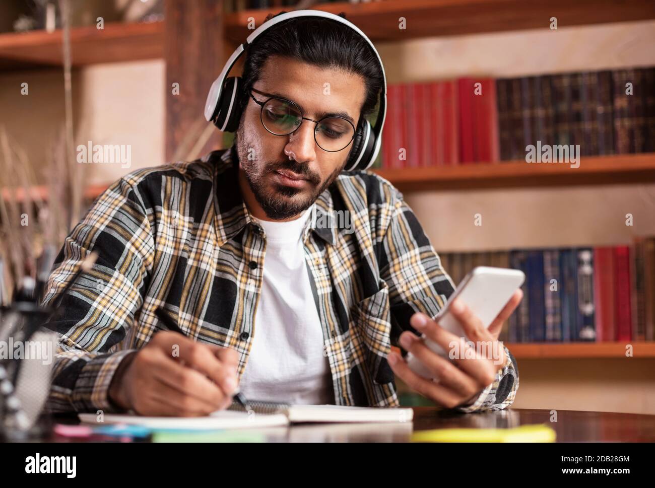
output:
[[[0, 34], [0, 69], [62, 66], [62, 30]], [[164, 22], [71, 29], [73, 66], [164, 57]]]

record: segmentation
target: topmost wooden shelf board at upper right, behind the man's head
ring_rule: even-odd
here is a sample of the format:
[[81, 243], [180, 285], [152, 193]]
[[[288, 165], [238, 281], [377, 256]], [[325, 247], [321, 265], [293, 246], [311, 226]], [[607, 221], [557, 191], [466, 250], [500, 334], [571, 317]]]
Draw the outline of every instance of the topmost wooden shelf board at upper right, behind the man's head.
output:
[[[406, 41], [419, 37], [461, 35], [520, 29], [627, 22], [655, 18], [652, 0], [386, 0], [369, 3], [327, 3], [312, 7], [338, 14], [358, 26], [372, 41]], [[225, 16], [225, 35], [242, 43], [252, 32], [248, 19], [261, 26], [267, 14], [289, 7], [242, 10]], [[406, 28], [399, 29], [399, 18]]]

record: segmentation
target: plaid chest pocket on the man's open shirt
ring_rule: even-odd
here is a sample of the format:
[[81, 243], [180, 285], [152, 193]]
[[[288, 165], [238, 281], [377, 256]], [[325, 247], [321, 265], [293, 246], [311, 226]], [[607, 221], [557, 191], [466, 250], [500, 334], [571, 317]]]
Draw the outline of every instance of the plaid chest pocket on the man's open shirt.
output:
[[384, 280], [379, 280], [378, 286], [379, 291], [352, 306], [350, 333], [355, 335], [358, 345], [364, 346], [354, 345], [353, 353], [364, 352], [371, 379], [382, 384], [393, 381], [394, 373], [386, 360], [391, 350], [389, 289]]

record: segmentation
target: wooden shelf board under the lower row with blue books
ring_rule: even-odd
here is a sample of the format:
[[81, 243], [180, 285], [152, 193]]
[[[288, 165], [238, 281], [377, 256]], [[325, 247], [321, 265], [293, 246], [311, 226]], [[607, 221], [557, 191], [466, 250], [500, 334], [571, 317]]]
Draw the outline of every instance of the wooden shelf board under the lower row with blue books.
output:
[[[630, 342], [633, 358], [655, 358], [655, 342]], [[517, 359], [626, 358], [626, 343], [505, 343]]]

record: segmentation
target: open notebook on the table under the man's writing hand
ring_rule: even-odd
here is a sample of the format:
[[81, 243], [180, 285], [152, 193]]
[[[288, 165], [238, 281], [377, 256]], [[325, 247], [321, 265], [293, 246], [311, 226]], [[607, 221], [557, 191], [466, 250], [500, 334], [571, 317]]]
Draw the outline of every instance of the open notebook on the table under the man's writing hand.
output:
[[[215, 411], [207, 417], [142, 417], [130, 414], [105, 414], [104, 424], [132, 424], [168, 429], [225, 429], [288, 425], [301, 422], [411, 422], [411, 408], [348, 407], [342, 405], [286, 405], [249, 402], [252, 412], [238, 404]], [[97, 424], [95, 413], [80, 413], [88, 424]]]

